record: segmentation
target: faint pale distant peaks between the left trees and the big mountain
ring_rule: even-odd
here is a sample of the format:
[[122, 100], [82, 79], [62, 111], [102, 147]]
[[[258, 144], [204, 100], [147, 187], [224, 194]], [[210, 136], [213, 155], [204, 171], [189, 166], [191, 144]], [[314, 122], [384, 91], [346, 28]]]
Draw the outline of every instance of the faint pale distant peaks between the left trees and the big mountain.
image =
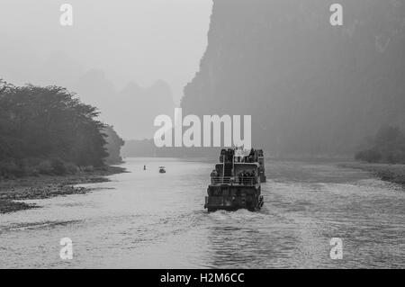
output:
[[91, 70], [76, 83], [76, 92], [85, 103], [93, 103], [124, 139], [151, 139], [157, 115], [172, 115], [175, 110], [170, 86], [157, 80], [149, 87], [134, 82], [116, 91], [112, 82], [100, 70]]

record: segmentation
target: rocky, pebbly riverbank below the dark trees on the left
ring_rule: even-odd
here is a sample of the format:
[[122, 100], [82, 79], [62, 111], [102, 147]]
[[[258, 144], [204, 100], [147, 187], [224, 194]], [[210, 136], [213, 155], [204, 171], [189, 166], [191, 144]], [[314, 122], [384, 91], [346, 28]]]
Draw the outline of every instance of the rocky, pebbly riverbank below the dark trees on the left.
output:
[[0, 181], [0, 214], [40, 207], [35, 204], [20, 202], [24, 200], [89, 193], [92, 191], [91, 189], [75, 187], [74, 185], [107, 182], [106, 176], [124, 172], [126, 170], [123, 167], [106, 166], [93, 171], [79, 172], [75, 175], [40, 175]]

